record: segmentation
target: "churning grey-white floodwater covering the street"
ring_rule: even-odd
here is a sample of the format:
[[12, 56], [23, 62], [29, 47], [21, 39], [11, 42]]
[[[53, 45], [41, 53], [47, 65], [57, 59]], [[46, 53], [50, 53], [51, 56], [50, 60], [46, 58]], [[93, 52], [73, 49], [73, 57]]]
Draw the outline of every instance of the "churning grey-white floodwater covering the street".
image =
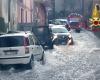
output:
[[100, 39], [92, 32], [71, 32], [74, 45], [46, 50], [46, 64], [32, 70], [0, 70], [0, 80], [100, 80]]

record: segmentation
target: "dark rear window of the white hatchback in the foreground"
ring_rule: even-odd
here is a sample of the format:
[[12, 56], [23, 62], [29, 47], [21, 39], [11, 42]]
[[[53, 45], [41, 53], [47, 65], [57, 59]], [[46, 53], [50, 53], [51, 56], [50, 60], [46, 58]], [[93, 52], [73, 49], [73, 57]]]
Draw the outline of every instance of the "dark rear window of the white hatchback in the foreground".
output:
[[0, 47], [15, 47], [23, 45], [24, 37], [22, 36], [0, 37]]

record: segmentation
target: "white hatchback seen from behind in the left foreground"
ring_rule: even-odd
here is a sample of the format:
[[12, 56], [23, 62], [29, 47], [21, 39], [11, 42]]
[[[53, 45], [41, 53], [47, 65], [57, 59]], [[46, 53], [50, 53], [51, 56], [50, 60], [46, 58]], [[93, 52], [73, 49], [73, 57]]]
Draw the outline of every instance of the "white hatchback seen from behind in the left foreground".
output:
[[0, 64], [23, 64], [32, 68], [34, 59], [44, 61], [44, 50], [31, 32], [7, 33], [0, 36]]

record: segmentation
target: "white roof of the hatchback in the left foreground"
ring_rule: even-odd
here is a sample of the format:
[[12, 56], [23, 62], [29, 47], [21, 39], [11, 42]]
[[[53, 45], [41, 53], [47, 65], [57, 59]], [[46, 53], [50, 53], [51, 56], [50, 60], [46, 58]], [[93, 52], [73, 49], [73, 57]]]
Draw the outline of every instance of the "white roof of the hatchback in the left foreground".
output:
[[24, 37], [28, 37], [29, 35], [31, 35], [31, 32], [25, 32], [25, 31], [21, 31], [21, 32], [15, 32], [15, 33], [7, 33], [4, 35], [1, 35], [0, 37], [7, 37], [7, 36], [24, 36]]

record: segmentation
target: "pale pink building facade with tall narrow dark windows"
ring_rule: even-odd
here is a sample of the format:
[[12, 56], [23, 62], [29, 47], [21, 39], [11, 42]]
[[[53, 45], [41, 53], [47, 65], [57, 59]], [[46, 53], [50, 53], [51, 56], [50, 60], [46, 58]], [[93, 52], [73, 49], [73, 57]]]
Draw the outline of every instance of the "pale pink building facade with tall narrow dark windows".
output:
[[33, 21], [33, 0], [17, 1], [17, 22], [32, 23]]

